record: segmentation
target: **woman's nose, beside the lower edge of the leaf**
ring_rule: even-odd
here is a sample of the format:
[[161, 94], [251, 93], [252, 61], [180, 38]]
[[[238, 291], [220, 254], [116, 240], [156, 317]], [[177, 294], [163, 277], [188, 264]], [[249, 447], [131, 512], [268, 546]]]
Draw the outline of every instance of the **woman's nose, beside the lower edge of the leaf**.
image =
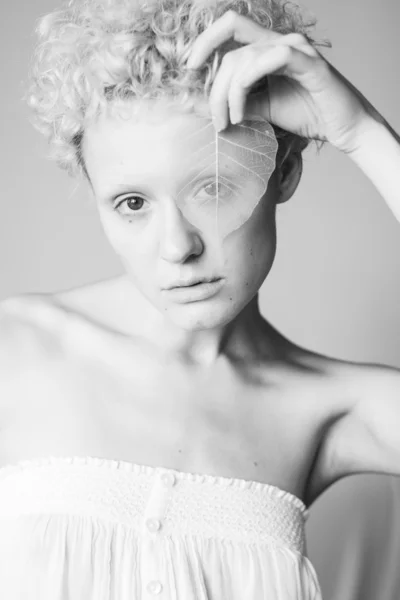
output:
[[204, 250], [199, 231], [184, 217], [174, 202], [168, 203], [160, 231], [160, 256], [172, 263], [181, 263]]

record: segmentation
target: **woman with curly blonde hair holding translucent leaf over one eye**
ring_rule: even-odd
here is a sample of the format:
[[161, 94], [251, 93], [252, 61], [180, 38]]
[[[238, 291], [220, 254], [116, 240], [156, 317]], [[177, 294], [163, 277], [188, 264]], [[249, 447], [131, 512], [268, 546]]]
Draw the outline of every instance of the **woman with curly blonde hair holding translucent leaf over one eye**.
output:
[[[2, 304], [7, 598], [318, 599], [309, 507], [345, 475], [400, 474], [398, 371], [300, 348], [258, 309], [309, 140], [348, 154], [400, 216], [398, 136], [306, 33], [256, 0], [71, 2], [42, 21], [30, 103], [126, 275]], [[215, 235], [186, 203], [215, 193], [196, 165], [207, 140], [190, 143], [206, 117], [181, 103], [206, 112], [202, 92], [217, 141], [256, 116], [279, 140], [227, 235], [230, 213]]]

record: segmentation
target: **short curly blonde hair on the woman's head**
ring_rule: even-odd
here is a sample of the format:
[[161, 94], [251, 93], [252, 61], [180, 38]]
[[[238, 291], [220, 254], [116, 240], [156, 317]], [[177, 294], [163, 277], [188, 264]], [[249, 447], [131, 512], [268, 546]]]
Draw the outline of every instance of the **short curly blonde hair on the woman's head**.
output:
[[[222, 57], [242, 44], [229, 40], [197, 71], [186, 61], [195, 39], [228, 10], [330, 46], [309, 36], [315, 19], [306, 21], [296, 4], [280, 0], [69, 0], [43, 16], [27, 101], [34, 126], [50, 143], [50, 157], [70, 175], [87, 176], [85, 126], [113, 100], [168, 97], [188, 105], [199, 95], [207, 98]], [[274, 129], [285, 155], [309, 144]]]

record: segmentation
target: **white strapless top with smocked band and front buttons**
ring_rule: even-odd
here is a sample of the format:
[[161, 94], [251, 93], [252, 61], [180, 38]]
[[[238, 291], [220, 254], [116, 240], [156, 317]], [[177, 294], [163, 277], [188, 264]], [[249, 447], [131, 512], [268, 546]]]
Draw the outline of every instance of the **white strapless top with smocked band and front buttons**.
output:
[[95, 457], [0, 468], [4, 600], [321, 600], [300, 498]]

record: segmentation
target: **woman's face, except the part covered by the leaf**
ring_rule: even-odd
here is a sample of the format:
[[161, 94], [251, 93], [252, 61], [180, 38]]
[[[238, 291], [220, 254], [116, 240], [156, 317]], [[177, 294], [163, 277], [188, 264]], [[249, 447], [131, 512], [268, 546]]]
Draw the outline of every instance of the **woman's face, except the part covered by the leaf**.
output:
[[[123, 119], [104, 114], [85, 131], [83, 158], [104, 231], [129, 278], [173, 323], [186, 330], [225, 325], [255, 296], [274, 260], [275, 173], [248, 220], [218, 243], [212, 228], [196, 226], [176, 202], [189, 171], [198, 171], [202, 194], [212, 184], [204, 176], [202, 187], [193, 152], [199, 117], [161, 103], [151, 114], [145, 108]], [[199, 278], [220, 279], [166, 289]]]

